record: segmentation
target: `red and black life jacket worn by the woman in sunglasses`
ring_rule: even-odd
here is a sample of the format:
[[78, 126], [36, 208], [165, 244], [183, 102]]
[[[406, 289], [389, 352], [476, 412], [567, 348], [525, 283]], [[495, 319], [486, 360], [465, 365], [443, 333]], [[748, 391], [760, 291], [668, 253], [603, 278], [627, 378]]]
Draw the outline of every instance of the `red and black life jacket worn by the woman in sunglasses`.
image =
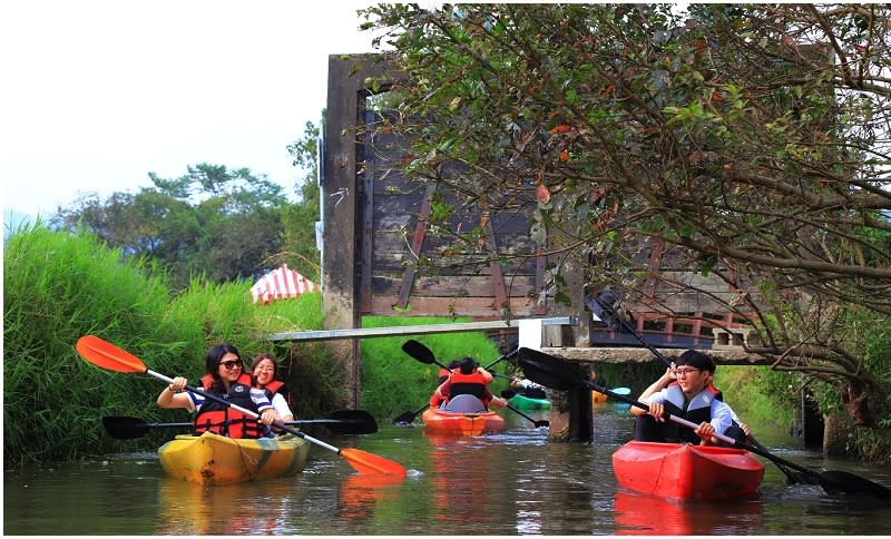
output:
[[[257, 405], [251, 399], [251, 376], [248, 374], [243, 373], [238, 376], [238, 380], [229, 386], [228, 394], [219, 394], [210, 390], [214, 378], [209, 374], [202, 376], [200, 382], [206, 393], [260, 413]], [[196, 434], [210, 431], [228, 438], [260, 438], [263, 435], [263, 425], [255, 418], [212, 399], [204, 400], [198, 415], [195, 416], [194, 425]]]

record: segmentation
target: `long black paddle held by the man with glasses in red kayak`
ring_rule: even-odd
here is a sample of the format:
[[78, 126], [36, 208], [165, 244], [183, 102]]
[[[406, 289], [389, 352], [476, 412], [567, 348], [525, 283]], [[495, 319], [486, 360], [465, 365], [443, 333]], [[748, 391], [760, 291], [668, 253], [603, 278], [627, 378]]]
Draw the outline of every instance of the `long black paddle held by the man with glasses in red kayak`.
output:
[[[541, 385], [561, 391], [568, 391], [572, 388], [579, 386], [587, 388], [589, 390], [599, 391], [600, 393], [614, 399], [618, 399], [619, 401], [627, 402], [628, 404], [637, 406], [642, 410], [649, 410], [649, 406], [642, 402], [638, 402], [629, 396], [620, 395], [586, 380], [578, 365], [567, 363], [559, 357], [555, 357], [537, 350], [522, 347], [519, 350], [519, 363], [522, 366], [523, 373], [526, 373], [530, 380]], [[669, 421], [684, 427], [688, 427], [691, 429], [697, 429], [699, 427], [698, 424], [687, 421], [683, 418], [677, 418], [672, 414], [666, 415], [666, 419]], [[733, 447], [744, 449], [751, 453], [760, 454], [761, 457], [764, 457], [773, 462], [779, 462], [802, 473], [806, 473], [815, 478], [820, 482], [820, 486], [823, 488], [823, 490], [829, 493], [860, 494], [881, 500], [891, 500], [891, 489], [870, 481], [869, 479], [858, 477], [853, 473], [840, 470], [817, 472], [776, 457], [764, 449], [734, 440], [733, 438], [725, 437], [723, 434], [715, 434], [715, 438]]]

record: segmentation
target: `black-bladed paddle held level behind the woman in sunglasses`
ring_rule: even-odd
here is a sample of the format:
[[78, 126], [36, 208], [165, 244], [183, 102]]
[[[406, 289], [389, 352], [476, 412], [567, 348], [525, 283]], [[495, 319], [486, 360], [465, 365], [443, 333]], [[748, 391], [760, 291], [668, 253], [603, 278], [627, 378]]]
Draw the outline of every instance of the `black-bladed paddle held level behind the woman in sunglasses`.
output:
[[[322, 424], [336, 434], [373, 434], [378, 432], [378, 422], [364, 410], [335, 410], [326, 419], [305, 419], [285, 421], [288, 427], [302, 424]], [[147, 423], [139, 418], [109, 415], [102, 418], [102, 427], [114, 438], [130, 440], [141, 438], [153, 429], [186, 429], [194, 423]]]

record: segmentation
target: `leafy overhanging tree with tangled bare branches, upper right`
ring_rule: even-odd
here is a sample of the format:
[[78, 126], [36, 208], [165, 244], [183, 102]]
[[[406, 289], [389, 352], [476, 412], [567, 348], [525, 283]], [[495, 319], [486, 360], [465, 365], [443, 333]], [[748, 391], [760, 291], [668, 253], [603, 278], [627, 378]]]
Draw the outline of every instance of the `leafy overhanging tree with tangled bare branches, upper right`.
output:
[[[490, 214], [530, 212], [557, 275], [572, 258], [628, 303], [640, 253], [664, 245], [663, 278], [738, 290], [715, 300], [752, 317], [753, 352], [838, 389], [855, 423], [891, 424], [891, 8], [365, 14], [405, 76], [384, 128], [412, 141], [408, 173]], [[479, 252], [474, 232], [447, 232]]]

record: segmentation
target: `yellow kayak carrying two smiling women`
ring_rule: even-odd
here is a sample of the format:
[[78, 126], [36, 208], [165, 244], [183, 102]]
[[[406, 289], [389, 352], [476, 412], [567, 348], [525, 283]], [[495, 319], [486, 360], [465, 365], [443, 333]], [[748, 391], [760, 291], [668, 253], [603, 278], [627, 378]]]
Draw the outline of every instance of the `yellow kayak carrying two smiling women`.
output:
[[205, 432], [180, 434], [158, 449], [172, 477], [202, 484], [229, 484], [292, 476], [306, 465], [310, 443], [293, 434], [233, 439]]

